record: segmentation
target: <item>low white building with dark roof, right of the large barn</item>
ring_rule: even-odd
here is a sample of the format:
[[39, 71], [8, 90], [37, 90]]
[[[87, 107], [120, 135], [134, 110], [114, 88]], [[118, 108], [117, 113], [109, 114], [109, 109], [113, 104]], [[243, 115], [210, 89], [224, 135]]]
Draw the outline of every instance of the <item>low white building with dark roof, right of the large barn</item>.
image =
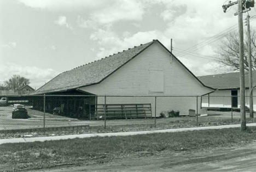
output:
[[[208, 94], [210, 97], [203, 97], [202, 107], [234, 107], [240, 108], [240, 75], [239, 72], [223, 73], [218, 75], [207, 75], [197, 77], [200, 81], [216, 89]], [[248, 72], [245, 73], [246, 96], [249, 96]], [[256, 71], [253, 71], [253, 85], [256, 85]], [[211, 97], [226, 96], [226, 97]], [[228, 97], [229, 96], [229, 97]], [[231, 97], [232, 96], [232, 97]], [[256, 90], [253, 91], [256, 96]], [[249, 107], [249, 97], [246, 97], [246, 106]], [[254, 109], [256, 108], [256, 97], [254, 97]]]

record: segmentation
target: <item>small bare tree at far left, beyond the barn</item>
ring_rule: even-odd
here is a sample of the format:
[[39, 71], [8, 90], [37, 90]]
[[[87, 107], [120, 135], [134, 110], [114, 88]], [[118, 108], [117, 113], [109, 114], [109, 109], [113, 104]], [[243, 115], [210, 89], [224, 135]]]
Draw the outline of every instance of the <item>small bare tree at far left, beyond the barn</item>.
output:
[[5, 87], [12, 90], [17, 90], [23, 85], [30, 84], [30, 79], [19, 75], [13, 75], [8, 81], [4, 81]]

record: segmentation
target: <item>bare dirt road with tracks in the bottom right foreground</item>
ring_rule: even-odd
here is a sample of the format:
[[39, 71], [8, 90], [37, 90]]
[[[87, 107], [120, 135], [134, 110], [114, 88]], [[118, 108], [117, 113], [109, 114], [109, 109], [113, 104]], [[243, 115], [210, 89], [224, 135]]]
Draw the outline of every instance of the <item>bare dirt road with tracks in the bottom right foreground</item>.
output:
[[38, 171], [255, 171], [256, 142], [201, 152], [166, 152], [160, 155], [113, 159], [96, 165], [66, 166]]

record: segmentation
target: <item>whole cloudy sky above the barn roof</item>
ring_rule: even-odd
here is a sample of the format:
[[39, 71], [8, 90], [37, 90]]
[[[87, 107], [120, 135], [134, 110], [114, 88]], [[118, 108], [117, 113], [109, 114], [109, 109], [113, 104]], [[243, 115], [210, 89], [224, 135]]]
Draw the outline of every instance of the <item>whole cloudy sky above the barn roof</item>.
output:
[[173, 54], [196, 76], [221, 72], [216, 51], [223, 36], [212, 36], [237, 26], [236, 5], [223, 13], [226, 3], [0, 0], [0, 83], [18, 74], [39, 88], [63, 71], [153, 39], [170, 49], [171, 38]]

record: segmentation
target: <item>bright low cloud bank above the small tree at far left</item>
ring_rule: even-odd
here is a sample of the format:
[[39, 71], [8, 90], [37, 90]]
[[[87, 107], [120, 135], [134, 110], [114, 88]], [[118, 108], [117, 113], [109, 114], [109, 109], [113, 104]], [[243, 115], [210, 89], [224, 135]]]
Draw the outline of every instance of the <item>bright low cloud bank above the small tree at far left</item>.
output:
[[55, 77], [59, 72], [53, 69], [41, 69], [36, 66], [21, 66], [14, 63], [1, 63], [0, 65], [0, 83], [9, 79], [13, 75], [20, 75], [30, 79], [31, 86], [39, 88], [46, 81]]

